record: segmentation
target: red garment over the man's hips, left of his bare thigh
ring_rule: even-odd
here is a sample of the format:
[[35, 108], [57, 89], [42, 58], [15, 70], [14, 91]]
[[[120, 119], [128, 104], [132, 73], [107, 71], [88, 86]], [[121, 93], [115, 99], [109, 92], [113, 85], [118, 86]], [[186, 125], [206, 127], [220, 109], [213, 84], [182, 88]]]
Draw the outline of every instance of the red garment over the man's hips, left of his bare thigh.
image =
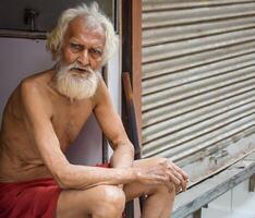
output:
[[0, 218], [53, 218], [60, 192], [53, 179], [0, 182]]

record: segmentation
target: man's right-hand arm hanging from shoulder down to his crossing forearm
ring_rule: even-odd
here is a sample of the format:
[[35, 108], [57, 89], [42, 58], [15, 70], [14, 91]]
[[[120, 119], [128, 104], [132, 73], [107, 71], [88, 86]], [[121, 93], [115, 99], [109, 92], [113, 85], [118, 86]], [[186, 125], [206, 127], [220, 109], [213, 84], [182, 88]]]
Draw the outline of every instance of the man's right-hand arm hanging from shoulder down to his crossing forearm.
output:
[[112, 106], [109, 92], [102, 80], [98, 84], [94, 100], [96, 119], [113, 149], [110, 160], [111, 166], [113, 168], [132, 167], [134, 147], [125, 133], [119, 114]]

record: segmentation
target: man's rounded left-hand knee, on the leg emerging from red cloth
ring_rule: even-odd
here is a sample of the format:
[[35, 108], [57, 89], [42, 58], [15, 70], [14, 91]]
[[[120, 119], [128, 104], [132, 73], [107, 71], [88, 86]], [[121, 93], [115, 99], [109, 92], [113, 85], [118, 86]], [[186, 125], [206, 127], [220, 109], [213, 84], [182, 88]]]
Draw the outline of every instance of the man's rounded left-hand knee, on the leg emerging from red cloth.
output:
[[113, 185], [101, 185], [100, 189], [100, 211], [98, 213], [109, 217], [120, 217], [125, 206], [124, 192]]

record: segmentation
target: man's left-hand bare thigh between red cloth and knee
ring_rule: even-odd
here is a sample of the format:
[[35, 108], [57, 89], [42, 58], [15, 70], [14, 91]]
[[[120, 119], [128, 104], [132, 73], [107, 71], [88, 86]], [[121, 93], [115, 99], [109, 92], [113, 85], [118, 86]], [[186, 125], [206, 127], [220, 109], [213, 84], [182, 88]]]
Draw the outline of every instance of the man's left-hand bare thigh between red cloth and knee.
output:
[[[100, 208], [106, 196], [107, 185], [88, 190], [63, 190], [57, 205], [57, 218], [90, 217], [93, 211]], [[101, 204], [101, 205], [100, 205]]]

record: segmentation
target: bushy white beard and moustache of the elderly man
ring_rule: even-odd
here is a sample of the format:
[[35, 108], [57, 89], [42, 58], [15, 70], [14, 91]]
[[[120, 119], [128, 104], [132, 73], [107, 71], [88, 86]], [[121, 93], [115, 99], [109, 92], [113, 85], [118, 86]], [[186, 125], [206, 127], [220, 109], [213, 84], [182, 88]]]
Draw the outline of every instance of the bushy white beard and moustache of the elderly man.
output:
[[[74, 68], [83, 69], [77, 72]], [[57, 90], [71, 100], [90, 98], [95, 95], [100, 81], [98, 71], [90, 68], [82, 68], [77, 63], [63, 65], [60, 63], [57, 70]]]

